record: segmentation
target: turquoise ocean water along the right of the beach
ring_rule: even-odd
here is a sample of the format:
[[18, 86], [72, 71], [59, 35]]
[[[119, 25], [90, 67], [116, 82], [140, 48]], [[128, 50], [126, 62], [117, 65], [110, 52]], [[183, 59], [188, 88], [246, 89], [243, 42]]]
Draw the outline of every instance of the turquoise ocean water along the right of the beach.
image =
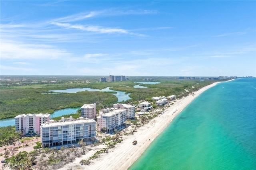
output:
[[256, 78], [206, 90], [130, 170], [256, 170]]

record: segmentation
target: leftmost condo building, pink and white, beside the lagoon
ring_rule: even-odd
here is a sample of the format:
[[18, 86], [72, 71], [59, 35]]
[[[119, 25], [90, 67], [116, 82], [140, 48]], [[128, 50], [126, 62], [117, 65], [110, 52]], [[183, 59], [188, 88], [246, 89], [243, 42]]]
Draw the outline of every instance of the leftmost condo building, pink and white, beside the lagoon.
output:
[[50, 121], [50, 114], [22, 114], [15, 117], [15, 131], [24, 135], [36, 133], [40, 134], [40, 126], [46, 121]]

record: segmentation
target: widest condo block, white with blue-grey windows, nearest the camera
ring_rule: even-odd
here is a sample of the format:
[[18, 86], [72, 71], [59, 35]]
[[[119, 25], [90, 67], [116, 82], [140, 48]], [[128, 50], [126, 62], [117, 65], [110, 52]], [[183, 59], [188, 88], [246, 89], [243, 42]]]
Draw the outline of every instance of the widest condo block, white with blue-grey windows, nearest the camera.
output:
[[96, 121], [80, 117], [73, 119], [62, 119], [60, 121], [50, 120], [41, 125], [42, 147], [54, 147], [79, 142], [93, 141], [96, 137]]

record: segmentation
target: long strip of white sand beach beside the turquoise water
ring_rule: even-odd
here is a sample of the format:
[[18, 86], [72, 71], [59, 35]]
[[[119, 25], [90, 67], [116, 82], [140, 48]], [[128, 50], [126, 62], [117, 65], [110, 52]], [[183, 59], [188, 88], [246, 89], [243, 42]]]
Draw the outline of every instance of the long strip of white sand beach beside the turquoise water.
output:
[[[233, 80], [233, 79], [232, 79]], [[229, 80], [231, 81], [231, 80]], [[175, 104], [171, 105], [164, 110], [164, 113], [152, 119], [149, 123], [136, 129], [133, 135], [123, 136], [122, 143], [119, 143], [113, 149], [110, 149], [108, 153], [100, 155], [100, 158], [91, 160], [90, 165], [80, 165], [80, 160], [86, 159], [92, 156], [96, 150], [100, 150], [105, 145], [99, 145], [92, 147], [92, 150], [86, 153], [86, 155], [76, 158], [74, 162], [66, 164], [59, 170], [66, 170], [73, 168], [74, 170], [125, 170], [128, 169], [132, 164], [140, 158], [145, 150], [150, 146], [152, 141], [156, 139], [165, 129], [172, 123], [172, 120], [190, 104], [196, 97], [202, 92], [212, 88], [220, 82], [214, 82], [208, 86], [204, 86], [200, 90], [193, 92], [194, 95], [189, 94], [188, 96], [176, 100]], [[136, 145], [132, 145], [132, 141], [138, 141]]]

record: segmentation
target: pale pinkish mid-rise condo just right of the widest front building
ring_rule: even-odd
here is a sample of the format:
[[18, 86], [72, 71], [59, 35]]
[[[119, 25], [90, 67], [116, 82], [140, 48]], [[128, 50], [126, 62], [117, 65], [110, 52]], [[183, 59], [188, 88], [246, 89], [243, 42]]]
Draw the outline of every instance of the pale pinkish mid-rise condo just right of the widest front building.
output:
[[111, 132], [124, 125], [126, 109], [111, 109], [109, 112], [99, 112], [97, 117], [97, 131]]

